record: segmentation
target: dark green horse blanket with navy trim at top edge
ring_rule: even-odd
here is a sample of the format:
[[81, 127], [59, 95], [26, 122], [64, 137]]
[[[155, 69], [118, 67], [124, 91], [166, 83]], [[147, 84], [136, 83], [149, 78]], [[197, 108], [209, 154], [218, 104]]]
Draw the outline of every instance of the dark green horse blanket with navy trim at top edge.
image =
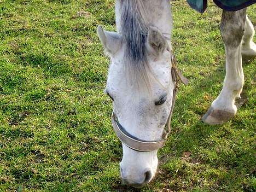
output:
[[[213, 0], [218, 7], [227, 11], [237, 11], [256, 3], [256, 0]], [[203, 13], [207, 8], [207, 0], [187, 0], [191, 8]]]

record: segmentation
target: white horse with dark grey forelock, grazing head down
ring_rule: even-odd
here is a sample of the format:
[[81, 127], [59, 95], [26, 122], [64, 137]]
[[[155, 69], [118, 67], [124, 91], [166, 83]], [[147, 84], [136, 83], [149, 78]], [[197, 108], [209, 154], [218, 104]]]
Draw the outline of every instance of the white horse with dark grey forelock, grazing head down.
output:
[[[165, 124], [174, 104], [170, 1], [117, 0], [115, 14], [117, 32], [97, 28], [110, 57], [106, 94], [113, 100], [112, 123], [123, 143], [121, 178], [124, 184], [141, 188], [156, 173], [157, 149], [164, 145]], [[202, 118], [208, 124], [223, 124], [234, 117], [244, 81], [242, 57], [256, 56], [246, 9], [223, 10], [220, 31], [226, 76], [222, 91]]]

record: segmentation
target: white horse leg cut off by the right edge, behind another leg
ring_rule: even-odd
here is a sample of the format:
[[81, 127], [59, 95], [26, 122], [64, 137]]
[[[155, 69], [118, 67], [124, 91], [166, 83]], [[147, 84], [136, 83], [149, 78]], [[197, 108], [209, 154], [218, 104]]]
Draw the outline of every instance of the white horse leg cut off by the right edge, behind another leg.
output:
[[248, 62], [256, 57], [256, 44], [253, 42], [255, 34], [252, 22], [246, 16], [245, 32], [242, 38], [242, 60]]

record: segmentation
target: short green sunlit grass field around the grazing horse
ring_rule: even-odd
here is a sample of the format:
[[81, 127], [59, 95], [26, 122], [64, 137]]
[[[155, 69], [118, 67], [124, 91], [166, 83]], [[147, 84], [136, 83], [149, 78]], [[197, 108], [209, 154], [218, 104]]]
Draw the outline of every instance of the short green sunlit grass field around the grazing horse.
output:
[[[221, 10], [172, 4], [173, 47], [190, 84], [179, 88], [158, 174], [137, 190], [121, 185], [103, 94], [109, 61], [96, 27], [115, 30], [114, 0], [0, 1], [0, 191], [256, 191], [256, 61], [244, 65], [249, 100], [236, 117], [201, 123], [224, 79]], [[247, 13], [256, 26], [256, 5]]]

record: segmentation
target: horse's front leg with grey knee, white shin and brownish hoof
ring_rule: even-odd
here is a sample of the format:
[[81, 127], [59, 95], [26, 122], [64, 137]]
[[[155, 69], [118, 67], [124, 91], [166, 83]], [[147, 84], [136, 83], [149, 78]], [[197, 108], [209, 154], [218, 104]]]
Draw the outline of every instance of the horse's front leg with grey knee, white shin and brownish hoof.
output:
[[242, 37], [245, 30], [246, 9], [222, 13], [220, 32], [225, 44], [226, 75], [222, 91], [203, 115], [202, 121], [217, 125], [229, 121], [236, 114], [235, 99], [243, 88]]

